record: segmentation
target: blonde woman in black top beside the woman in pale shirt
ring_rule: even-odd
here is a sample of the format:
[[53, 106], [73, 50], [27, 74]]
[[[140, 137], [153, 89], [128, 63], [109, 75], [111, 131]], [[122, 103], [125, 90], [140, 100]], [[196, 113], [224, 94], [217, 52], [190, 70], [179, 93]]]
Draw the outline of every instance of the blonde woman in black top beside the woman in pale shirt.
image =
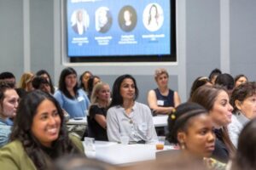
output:
[[107, 135], [107, 109], [110, 102], [110, 88], [107, 83], [99, 82], [93, 88], [89, 109], [88, 136], [96, 140], [108, 141]]

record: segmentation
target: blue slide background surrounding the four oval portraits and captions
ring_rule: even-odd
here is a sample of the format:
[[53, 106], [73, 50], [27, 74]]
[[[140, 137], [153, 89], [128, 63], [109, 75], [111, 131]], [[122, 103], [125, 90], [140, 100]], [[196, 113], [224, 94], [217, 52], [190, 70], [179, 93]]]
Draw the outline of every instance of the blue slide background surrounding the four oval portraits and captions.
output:
[[[72, 3], [73, 2], [73, 3]], [[163, 25], [158, 31], [148, 31], [143, 25], [143, 11], [149, 3], [158, 3], [163, 11]], [[130, 32], [119, 27], [119, 11], [130, 5], [137, 11], [137, 26]], [[97, 8], [108, 7], [113, 21], [109, 31], [96, 31], [95, 12]], [[83, 8], [90, 17], [88, 30], [79, 35], [72, 28], [71, 17], [75, 10]], [[102, 57], [122, 55], [162, 55], [172, 54], [171, 49], [171, 7], [170, 0], [67, 0], [67, 54], [69, 57]], [[164, 37], [143, 38], [143, 36]], [[121, 37], [131, 36], [135, 44], [119, 44]], [[107, 45], [99, 45], [96, 37], [112, 37]], [[87, 42], [76, 43], [74, 40], [87, 39]], [[75, 43], [74, 43], [75, 42]]]

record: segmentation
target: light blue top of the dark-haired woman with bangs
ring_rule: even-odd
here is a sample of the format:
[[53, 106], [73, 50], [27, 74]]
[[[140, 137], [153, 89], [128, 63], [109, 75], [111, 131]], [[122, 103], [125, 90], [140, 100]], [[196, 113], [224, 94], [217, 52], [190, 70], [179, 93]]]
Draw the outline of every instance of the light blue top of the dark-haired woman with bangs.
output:
[[60, 90], [57, 90], [54, 96], [60, 103], [61, 108], [67, 111], [70, 118], [86, 116], [85, 111], [89, 108], [90, 100], [84, 93], [84, 90], [78, 90], [76, 99], [67, 98]]

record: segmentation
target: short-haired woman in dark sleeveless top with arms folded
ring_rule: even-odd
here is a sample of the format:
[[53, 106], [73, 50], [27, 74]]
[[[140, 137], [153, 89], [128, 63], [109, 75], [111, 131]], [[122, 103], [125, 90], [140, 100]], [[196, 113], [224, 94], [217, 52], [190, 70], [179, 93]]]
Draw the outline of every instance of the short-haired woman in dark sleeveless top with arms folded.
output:
[[168, 88], [169, 74], [166, 69], [157, 69], [154, 73], [157, 88], [148, 92], [148, 105], [154, 114], [168, 114], [180, 104], [177, 92]]

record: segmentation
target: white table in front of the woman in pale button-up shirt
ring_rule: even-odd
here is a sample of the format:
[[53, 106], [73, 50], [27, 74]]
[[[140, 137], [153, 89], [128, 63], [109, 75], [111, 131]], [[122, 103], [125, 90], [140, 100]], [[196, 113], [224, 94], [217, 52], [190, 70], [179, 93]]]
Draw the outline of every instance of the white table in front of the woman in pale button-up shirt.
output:
[[[155, 144], [117, 144], [114, 142], [96, 141], [96, 151], [88, 151], [85, 155], [114, 165], [129, 165], [138, 161], [155, 159]], [[164, 150], [172, 150], [173, 146], [165, 146]]]

